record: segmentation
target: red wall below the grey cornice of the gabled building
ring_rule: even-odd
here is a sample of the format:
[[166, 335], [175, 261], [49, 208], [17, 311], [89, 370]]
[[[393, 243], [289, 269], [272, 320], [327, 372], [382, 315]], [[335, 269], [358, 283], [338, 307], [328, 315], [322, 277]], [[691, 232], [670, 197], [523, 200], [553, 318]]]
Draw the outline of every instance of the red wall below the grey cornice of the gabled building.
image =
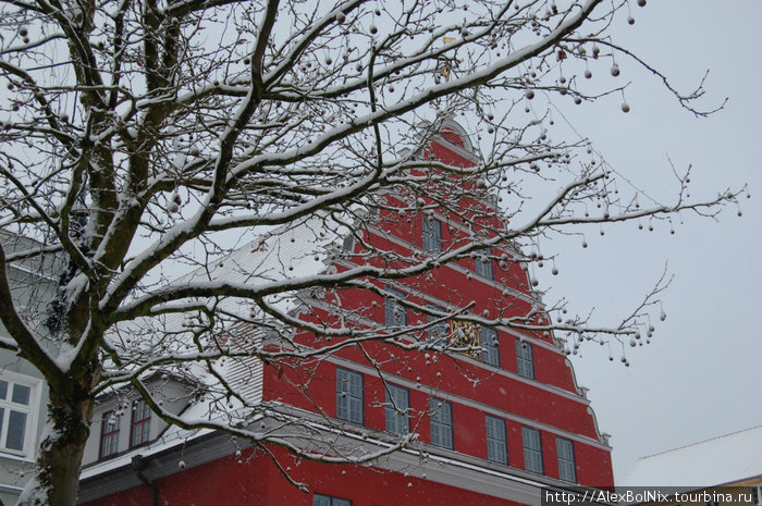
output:
[[[276, 451], [278, 452], [278, 451]], [[312, 494], [300, 492], [271, 465], [268, 457], [243, 455], [214, 460], [157, 480], [159, 505], [263, 506], [312, 504]], [[281, 455], [283, 458], [287, 458]], [[519, 504], [499, 501], [478, 492], [432, 483], [401, 472], [353, 466], [325, 466], [305, 461], [297, 478], [310, 483], [314, 493], [347, 498], [353, 506], [420, 506], [463, 504], [494, 506]], [[151, 490], [143, 485], [87, 503], [91, 506], [144, 506], [151, 504]]]

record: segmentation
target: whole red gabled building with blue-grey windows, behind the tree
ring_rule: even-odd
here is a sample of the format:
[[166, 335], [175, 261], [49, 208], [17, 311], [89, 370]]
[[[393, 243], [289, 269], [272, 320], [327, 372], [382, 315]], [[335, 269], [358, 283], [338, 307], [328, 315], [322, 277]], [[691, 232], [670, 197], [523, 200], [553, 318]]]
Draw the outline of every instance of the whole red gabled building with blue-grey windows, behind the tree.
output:
[[[420, 157], [466, 168], [478, 163], [455, 123], [447, 124]], [[268, 407], [244, 425], [266, 432], [307, 420], [292, 429], [302, 431], [305, 447], [351, 459], [405, 441], [403, 449], [362, 466], [310, 461], [275, 445], [267, 446], [268, 455], [213, 430], [184, 433], [158, 419], [149, 430], [138, 400], [131, 400], [133, 415], [139, 414], [136, 420], [114, 423], [109, 414], [116, 412], [116, 400], [105, 399], [86, 454], [81, 502], [487, 506], [539, 504], [542, 488], [612, 488], [611, 448], [563, 346], [546, 331], [479, 323], [480, 318], [500, 318], [542, 326], [549, 318], [527, 272], [513, 261], [516, 251], [489, 245], [493, 231], [505, 226], [495, 202], [465, 195], [445, 209], [439, 205], [443, 196], [437, 177], [431, 184], [429, 196], [386, 195], [385, 210], [354, 231], [354, 238], [347, 234], [322, 269], [383, 268], [382, 251], [395, 251], [395, 261], [401, 255], [420, 261], [427, 255], [455, 255], [460, 245], [474, 240], [483, 242], [484, 248], [430, 273], [369, 281], [371, 289], [310, 293], [292, 310], [325, 329], [352, 328], [359, 337], [364, 330], [386, 329], [390, 341], [342, 347], [341, 337], [331, 341], [330, 332], [300, 333], [293, 337], [296, 349], [335, 343], [335, 350], [308, 360], [228, 368], [249, 404]], [[471, 189], [470, 195], [480, 190], [478, 184]], [[419, 212], [410, 211], [416, 207]], [[479, 225], [468, 226], [466, 221]], [[241, 258], [234, 254], [220, 262], [229, 267], [220, 269], [244, 268], [254, 261], [251, 255], [267, 249], [287, 276], [294, 270], [290, 257], [300, 251], [300, 258], [307, 258], [299, 249], [305, 244], [324, 251], [315, 231], [314, 223], [305, 223], [300, 231], [269, 234], [255, 247], [242, 248], [246, 260], [243, 252]], [[307, 251], [310, 256], [317, 251], [312, 249]], [[119, 403], [128, 406], [123, 399]], [[175, 411], [184, 412], [182, 403], [175, 404]], [[128, 416], [122, 412], [121, 418]], [[135, 423], [140, 424], [143, 441], [134, 437]], [[119, 440], [114, 443], [120, 430], [127, 440], [121, 445]]]

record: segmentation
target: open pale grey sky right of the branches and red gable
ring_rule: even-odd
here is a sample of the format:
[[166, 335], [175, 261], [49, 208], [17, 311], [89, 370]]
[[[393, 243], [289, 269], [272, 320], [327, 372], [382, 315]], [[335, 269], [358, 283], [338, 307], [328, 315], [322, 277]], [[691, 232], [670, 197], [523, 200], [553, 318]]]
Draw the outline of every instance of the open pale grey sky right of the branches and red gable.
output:
[[[649, 0], [632, 3], [634, 26], [624, 17], [615, 42], [690, 91], [710, 70], [708, 107], [729, 101], [709, 119], [697, 119], [632, 62], [619, 59], [631, 112], [620, 97], [593, 107], [568, 109], [567, 118], [590, 137], [622, 175], [654, 196], [674, 195], [668, 160], [693, 166], [693, 197], [749, 185], [750, 199], [727, 208], [718, 222], [686, 214], [654, 232], [636, 224], [555, 240], [562, 275], [548, 285], [546, 299], [565, 296], [574, 308], [595, 307], [599, 321], [616, 321], [632, 309], [661, 275], [665, 263], [675, 279], [663, 295], [667, 319], [656, 322], [648, 346], [630, 350], [625, 368], [615, 349], [582, 348], [574, 363], [599, 427], [612, 434], [614, 471], [620, 481], [638, 457], [762, 423], [759, 371], [762, 332], [762, 262], [757, 258], [762, 231], [762, 18], [759, 0]], [[759, 195], [757, 195], [759, 194]], [[550, 276], [549, 276], [550, 277]], [[552, 283], [551, 283], [552, 282]], [[740, 477], [739, 477], [740, 478]]]

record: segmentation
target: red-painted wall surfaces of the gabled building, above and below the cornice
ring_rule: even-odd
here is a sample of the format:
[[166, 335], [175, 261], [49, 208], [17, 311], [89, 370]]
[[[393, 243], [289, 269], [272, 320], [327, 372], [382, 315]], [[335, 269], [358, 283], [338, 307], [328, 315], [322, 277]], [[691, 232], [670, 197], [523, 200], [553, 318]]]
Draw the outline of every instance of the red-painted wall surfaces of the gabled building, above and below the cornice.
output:
[[[432, 143], [425, 156], [451, 165], [470, 166], [475, 160], [468, 156], [466, 146], [466, 140], [455, 131], [445, 131], [443, 138]], [[390, 196], [389, 206], [406, 207], [409, 198]], [[423, 200], [423, 207], [434, 203], [427, 197]], [[451, 211], [437, 209], [431, 213], [408, 212], [403, 215], [390, 210], [386, 215], [378, 217], [373, 226], [364, 232], [362, 238], [380, 249], [415, 255], [426, 248], [422, 220], [430, 217], [440, 223], [439, 239], [443, 248], [452, 249], [472, 240], [472, 235], [479, 232], [489, 239], [490, 230], [505, 226], [490, 206], [487, 201], [464, 199], [457, 209]], [[483, 231], [467, 230], [458, 215], [463, 212], [483, 215], [480, 221]], [[358, 252], [360, 247], [355, 245], [354, 248]], [[351, 269], [352, 258], [336, 261], [335, 268], [339, 271]], [[533, 323], [548, 323], [549, 316], [537, 300], [527, 273], [511, 259], [509, 250], [493, 247], [487, 260], [491, 267], [491, 280], [483, 275], [483, 268], [479, 274], [477, 262], [483, 260], [477, 255], [440, 267], [430, 274], [400, 280], [391, 287], [414, 306], [434, 305], [445, 310], [469, 307], [471, 314], [486, 319], [524, 317], [534, 310]], [[368, 262], [382, 266], [380, 258]], [[384, 291], [390, 286], [377, 287]], [[314, 322], [334, 321], [336, 317], [331, 306], [361, 314], [352, 323], [357, 329], [370, 326], [369, 322], [383, 323], [388, 318], [384, 311], [389, 311], [389, 301], [381, 294], [342, 291], [328, 294], [325, 300], [325, 304], [304, 309], [300, 318]], [[395, 317], [405, 318], [408, 325], [427, 321], [427, 314], [414, 308], [403, 311], [404, 316]], [[444, 324], [448, 332], [464, 325], [452, 319]], [[478, 325], [465, 325], [467, 331], [476, 331], [478, 335]], [[421, 335], [423, 332], [427, 331], [421, 331]], [[317, 464], [296, 459], [273, 447], [272, 452], [284, 468], [288, 468], [292, 478], [308, 484], [308, 493], [288, 483], [270, 457], [248, 451], [182, 471], [174, 470], [173, 474], [156, 479], [150, 484], [88, 504], [150, 504], [151, 493], [157, 491], [159, 504], [171, 505], [336, 506], [346, 504], [341, 499], [348, 499], [353, 506], [487, 506], [527, 504], [520, 494], [511, 495], [512, 488], [536, 488], [539, 491], [542, 486], [563, 488], [573, 483], [612, 488], [611, 448], [599, 434], [589, 403], [578, 392], [572, 366], [553, 336], [546, 332], [519, 332], [497, 326], [496, 337], [496, 349], [493, 347], [490, 351], [493, 354], [489, 360], [491, 363], [486, 363], [487, 358], [474, 350], [445, 355], [435, 349], [409, 350], [370, 341], [364, 344], [365, 350], [348, 347], [312, 363], [299, 362], [293, 368], [288, 363], [265, 367], [263, 400], [306, 411], [321, 410], [329, 417], [348, 420], [349, 427], [355, 425], [364, 433], [382, 433], [389, 428], [385, 384], [406, 391], [409, 428], [419, 434], [418, 441], [427, 453], [427, 458], [418, 459], [416, 465], [403, 466], [400, 462], [404, 459], [370, 468]], [[297, 338], [307, 344], [318, 340], [311, 335]], [[401, 343], [405, 343], [404, 336]], [[466, 341], [465, 344], [474, 342]], [[377, 360], [372, 367], [367, 356]], [[349, 374], [353, 381], [361, 378], [359, 415], [340, 412], [348, 402], [342, 400], [344, 394], [339, 393], [337, 371], [345, 377]], [[308, 392], [302, 387], [304, 384], [308, 384]], [[357, 397], [355, 394], [347, 395]], [[432, 399], [448, 403], [452, 448], [443, 448], [442, 440], [432, 440]], [[488, 417], [490, 423], [497, 420], [495, 427], [499, 429], [502, 427], [500, 421], [504, 423], [507, 464], [488, 454]], [[529, 441], [532, 434], [539, 435], [539, 449]], [[497, 441], [496, 444], [502, 443]], [[525, 456], [534, 459], [533, 464], [527, 462]], [[320, 502], [324, 497], [328, 497], [328, 503]], [[331, 502], [331, 498], [337, 501]]]

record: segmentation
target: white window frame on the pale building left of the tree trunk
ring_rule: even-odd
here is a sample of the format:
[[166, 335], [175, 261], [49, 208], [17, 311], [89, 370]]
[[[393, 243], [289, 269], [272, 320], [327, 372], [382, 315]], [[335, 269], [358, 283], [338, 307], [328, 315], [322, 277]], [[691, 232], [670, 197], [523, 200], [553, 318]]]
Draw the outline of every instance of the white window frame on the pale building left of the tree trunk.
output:
[[[0, 454], [4, 456], [12, 455], [15, 457], [21, 457], [25, 460], [34, 460], [37, 455], [37, 445], [34, 443], [37, 440], [37, 427], [40, 415], [39, 400], [40, 392], [42, 390], [42, 380], [11, 371], [3, 371], [0, 373], [0, 380], [8, 382], [8, 399], [0, 399], [0, 407], [3, 408], [2, 429], [0, 430]], [[27, 406], [22, 406], [10, 400], [12, 398], [11, 396], [13, 395], [14, 384], [29, 387], [29, 404]], [[22, 443], [21, 451], [5, 447], [11, 410], [21, 411], [26, 415], [24, 441]]]

